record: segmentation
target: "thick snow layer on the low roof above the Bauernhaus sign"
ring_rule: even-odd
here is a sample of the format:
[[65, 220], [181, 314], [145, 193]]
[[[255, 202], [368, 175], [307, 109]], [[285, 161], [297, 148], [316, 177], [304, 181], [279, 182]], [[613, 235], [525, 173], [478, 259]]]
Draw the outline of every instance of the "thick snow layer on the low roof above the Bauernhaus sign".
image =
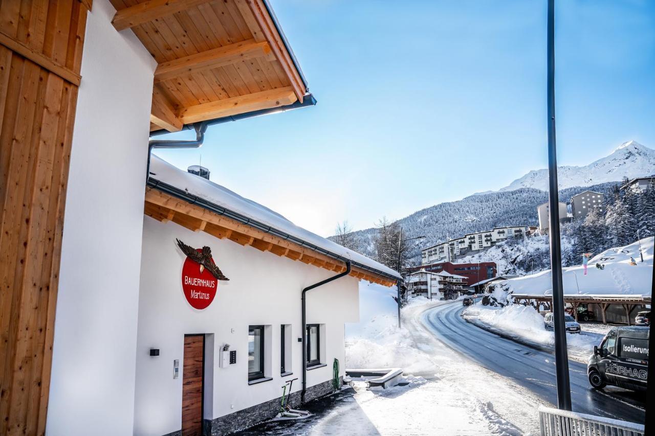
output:
[[320, 249], [328, 251], [332, 255], [371, 268], [384, 276], [388, 276], [388, 278], [402, 278], [398, 272], [391, 268], [323, 238], [322, 236], [318, 236], [309, 230], [298, 227], [280, 215], [280, 213], [253, 202], [252, 200], [248, 200], [248, 198], [244, 198], [239, 194], [236, 194], [236, 192], [230, 191], [221, 185], [217, 185], [217, 183], [180, 170], [155, 154], [151, 156], [150, 172], [151, 179], [156, 179], [167, 185], [186, 191], [193, 196], [202, 198], [203, 200], [220, 206], [221, 208], [229, 209], [229, 211], [243, 215], [248, 219], [259, 221], [259, 223], [272, 227], [279, 232], [283, 232], [294, 238], [308, 242], [309, 244], [316, 245], [316, 247], [320, 247]]

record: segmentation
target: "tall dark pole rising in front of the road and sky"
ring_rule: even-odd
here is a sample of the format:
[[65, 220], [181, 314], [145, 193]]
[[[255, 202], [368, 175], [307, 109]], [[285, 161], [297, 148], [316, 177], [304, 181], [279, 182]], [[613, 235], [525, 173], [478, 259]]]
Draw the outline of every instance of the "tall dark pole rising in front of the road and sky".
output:
[[559, 241], [559, 194], [557, 192], [557, 149], [555, 146], [555, 0], [548, 0], [548, 205], [550, 215], [550, 267], [553, 280], [553, 318], [555, 328], [555, 374], [557, 375], [557, 408], [571, 410], [571, 380], [564, 321], [564, 289], [562, 285], [561, 246]]

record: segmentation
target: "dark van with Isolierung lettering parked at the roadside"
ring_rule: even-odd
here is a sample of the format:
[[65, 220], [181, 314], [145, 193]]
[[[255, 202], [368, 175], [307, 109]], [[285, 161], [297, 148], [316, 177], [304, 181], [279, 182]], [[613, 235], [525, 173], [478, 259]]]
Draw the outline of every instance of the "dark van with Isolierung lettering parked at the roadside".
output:
[[616, 327], [600, 346], [593, 347], [587, 373], [594, 389], [612, 384], [629, 390], [646, 390], [648, 379], [647, 327]]

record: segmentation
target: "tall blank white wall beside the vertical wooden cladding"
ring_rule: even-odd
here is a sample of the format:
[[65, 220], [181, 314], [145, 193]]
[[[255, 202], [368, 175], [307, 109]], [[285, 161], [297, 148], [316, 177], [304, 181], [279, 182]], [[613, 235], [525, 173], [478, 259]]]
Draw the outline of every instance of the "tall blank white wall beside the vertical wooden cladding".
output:
[[88, 14], [65, 205], [47, 434], [130, 435], [155, 61]]

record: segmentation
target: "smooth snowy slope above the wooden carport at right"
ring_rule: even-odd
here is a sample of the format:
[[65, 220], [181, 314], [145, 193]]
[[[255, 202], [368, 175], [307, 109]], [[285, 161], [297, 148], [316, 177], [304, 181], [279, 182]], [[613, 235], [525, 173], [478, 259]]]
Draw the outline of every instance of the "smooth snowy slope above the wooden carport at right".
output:
[[[603, 294], [603, 295], [647, 295], [650, 296], [653, 272], [653, 240], [641, 240], [644, 262], [639, 257], [639, 242], [625, 247], [610, 248], [589, 259], [588, 275], [584, 275], [582, 265], [563, 268], [562, 278], [565, 294]], [[630, 264], [630, 257], [637, 261]], [[599, 270], [595, 264], [605, 265]], [[531, 276], [523, 276], [498, 282], [515, 294], [552, 293], [550, 270]]]

